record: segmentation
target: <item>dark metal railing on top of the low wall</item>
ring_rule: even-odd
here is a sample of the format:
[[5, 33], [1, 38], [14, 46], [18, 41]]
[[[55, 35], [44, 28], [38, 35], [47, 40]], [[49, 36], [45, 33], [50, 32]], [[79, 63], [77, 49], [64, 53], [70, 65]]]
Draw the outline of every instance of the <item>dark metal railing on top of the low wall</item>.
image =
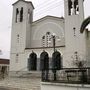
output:
[[90, 84], [90, 67], [42, 70], [42, 82]]

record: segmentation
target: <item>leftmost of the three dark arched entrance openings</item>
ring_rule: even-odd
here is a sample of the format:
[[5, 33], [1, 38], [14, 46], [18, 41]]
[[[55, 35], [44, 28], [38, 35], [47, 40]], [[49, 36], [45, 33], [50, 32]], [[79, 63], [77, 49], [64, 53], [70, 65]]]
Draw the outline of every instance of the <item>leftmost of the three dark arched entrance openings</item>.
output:
[[29, 55], [28, 70], [37, 70], [37, 55], [34, 52]]

